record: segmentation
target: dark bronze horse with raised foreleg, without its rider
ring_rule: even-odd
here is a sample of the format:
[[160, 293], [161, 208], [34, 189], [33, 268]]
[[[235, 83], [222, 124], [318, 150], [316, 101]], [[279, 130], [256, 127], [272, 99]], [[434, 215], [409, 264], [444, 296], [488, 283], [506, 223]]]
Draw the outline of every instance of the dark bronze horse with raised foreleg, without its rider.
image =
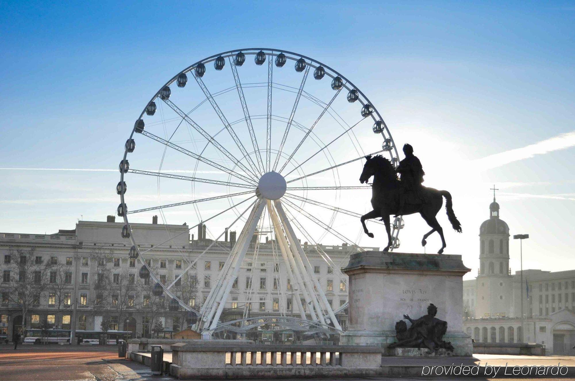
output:
[[362, 184], [373, 176], [373, 185], [371, 185], [371, 206], [373, 211], [361, 217], [363, 231], [367, 236], [373, 238], [373, 233], [370, 233], [365, 226], [365, 220], [381, 217], [385, 223], [385, 230], [388, 233], [388, 246], [384, 251], [389, 251], [392, 246], [392, 235], [390, 228], [390, 215], [405, 216], [413, 213], [420, 213], [421, 217], [431, 227], [431, 230], [423, 235], [421, 239], [421, 246], [425, 246], [427, 241], [425, 239], [433, 232], [438, 232], [441, 236], [443, 246], [439, 249], [438, 254], [443, 254], [443, 249], [447, 246], [443, 236], [443, 228], [439, 225], [436, 215], [443, 205], [442, 197], [445, 197], [445, 208], [447, 211], [447, 218], [453, 226], [454, 230], [461, 233], [461, 223], [455, 217], [453, 212], [453, 204], [451, 203], [451, 195], [447, 190], [437, 190], [434, 188], [421, 187], [421, 197], [417, 203], [400, 203], [400, 197], [405, 197], [405, 190], [401, 187], [401, 182], [397, 178], [396, 169], [393, 168], [391, 162], [381, 155], [371, 157], [367, 155], [366, 163], [363, 166], [363, 172], [359, 177], [359, 182]]

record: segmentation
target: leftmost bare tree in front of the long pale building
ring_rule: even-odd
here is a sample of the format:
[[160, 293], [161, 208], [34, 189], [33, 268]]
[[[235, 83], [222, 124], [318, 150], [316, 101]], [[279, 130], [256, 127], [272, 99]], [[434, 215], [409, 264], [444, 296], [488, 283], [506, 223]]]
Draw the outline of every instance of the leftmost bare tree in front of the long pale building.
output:
[[[6, 263], [5, 271], [9, 271], [9, 279], [5, 279], [8, 298], [12, 304], [22, 310], [22, 329], [26, 327], [26, 314], [34, 306], [40, 305], [40, 298], [48, 283], [48, 271], [52, 265], [35, 255], [34, 248], [10, 247], [8, 250], [10, 263]], [[51, 300], [49, 304], [51, 304]]]

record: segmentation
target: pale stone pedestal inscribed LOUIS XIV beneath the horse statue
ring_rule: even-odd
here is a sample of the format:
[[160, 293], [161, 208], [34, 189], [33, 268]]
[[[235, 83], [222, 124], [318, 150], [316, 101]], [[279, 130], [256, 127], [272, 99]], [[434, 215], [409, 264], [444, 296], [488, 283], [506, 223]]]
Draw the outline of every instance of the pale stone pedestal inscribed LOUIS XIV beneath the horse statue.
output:
[[471, 337], [463, 332], [463, 275], [470, 271], [461, 255], [407, 254], [366, 251], [352, 254], [343, 269], [349, 277], [348, 330], [342, 345], [381, 345], [396, 341], [395, 324], [408, 314], [413, 320], [427, 314], [447, 321], [443, 340], [453, 355], [470, 356]]

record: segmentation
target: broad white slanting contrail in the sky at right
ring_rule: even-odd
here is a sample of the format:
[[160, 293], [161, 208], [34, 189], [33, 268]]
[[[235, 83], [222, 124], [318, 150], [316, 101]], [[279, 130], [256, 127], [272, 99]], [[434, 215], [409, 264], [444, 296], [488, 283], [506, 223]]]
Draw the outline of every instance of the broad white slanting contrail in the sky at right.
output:
[[560, 134], [553, 138], [542, 140], [540, 142], [530, 144], [525, 147], [516, 148], [501, 153], [489, 155], [487, 157], [474, 160], [473, 164], [482, 170], [496, 168], [513, 161], [519, 161], [534, 157], [535, 155], [543, 155], [553, 151], [563, 150], [575, 146], [575, 131], [570, 133]]

